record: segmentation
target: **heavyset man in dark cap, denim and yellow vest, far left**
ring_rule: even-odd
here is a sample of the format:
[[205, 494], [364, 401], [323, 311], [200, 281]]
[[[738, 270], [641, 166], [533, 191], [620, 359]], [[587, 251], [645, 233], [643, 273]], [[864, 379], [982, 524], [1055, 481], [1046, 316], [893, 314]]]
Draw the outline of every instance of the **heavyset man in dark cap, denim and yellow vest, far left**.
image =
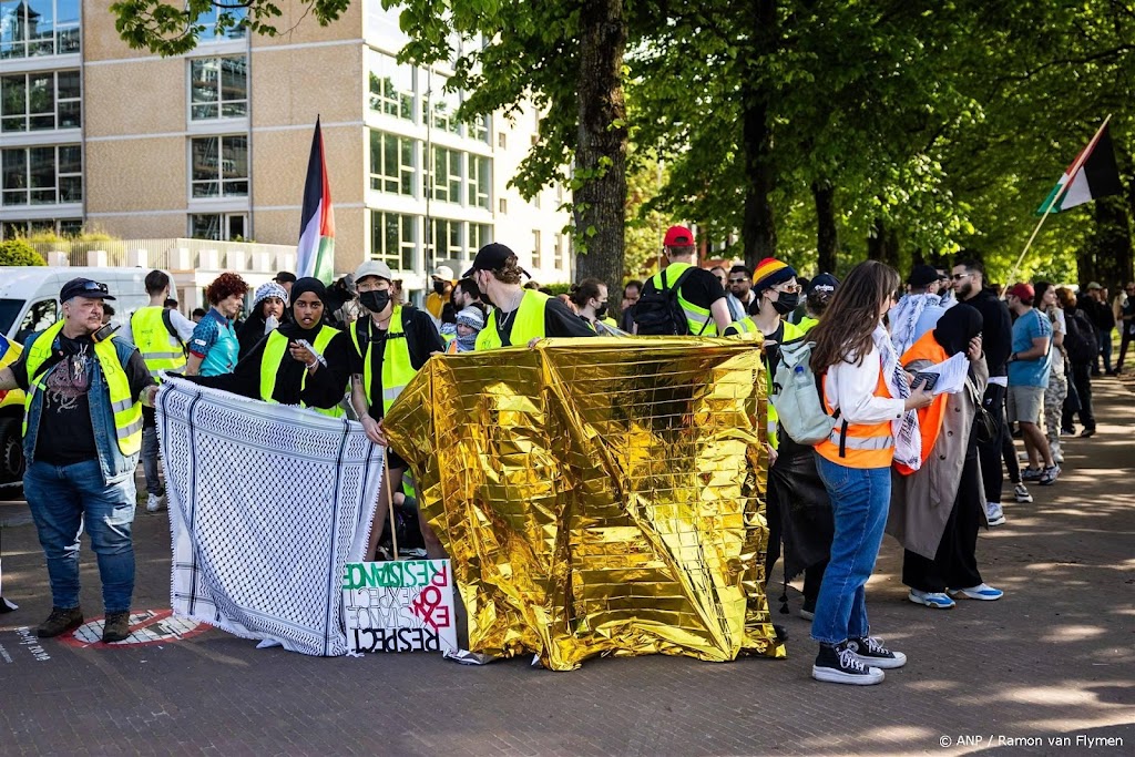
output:
[[51, 583], [51, 614], [41, 639], [83, 624], [79, 537], [99, 557], [102, 640], [129, 633], [134, 594], [134, 471], [142, 447], [142, 405], [157, 385], [142, 355], [117, 336], [94, 339], [102, 327], [106, 284], [85, 278], [59, 292], [62, 319], [32, 335], [19, 359], [0, 370], [0, 390], [23, 389], [24, 494]]

